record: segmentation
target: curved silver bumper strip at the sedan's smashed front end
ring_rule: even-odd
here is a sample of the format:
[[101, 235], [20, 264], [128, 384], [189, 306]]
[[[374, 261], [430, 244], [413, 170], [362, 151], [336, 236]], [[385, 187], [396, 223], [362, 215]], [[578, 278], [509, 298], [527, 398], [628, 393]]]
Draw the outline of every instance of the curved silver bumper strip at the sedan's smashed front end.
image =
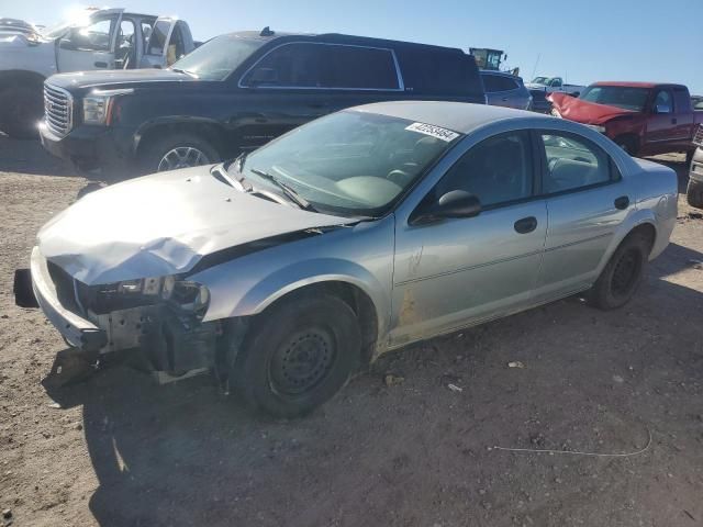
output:
[[64, 338], [86, 351], [99, 351], [108, 344], [108, 335], [90, 321], [78, 316], [62, 305], [48, 273], [46, 259], [38, 247], [32, 250], [32, 290], [40, 307]]

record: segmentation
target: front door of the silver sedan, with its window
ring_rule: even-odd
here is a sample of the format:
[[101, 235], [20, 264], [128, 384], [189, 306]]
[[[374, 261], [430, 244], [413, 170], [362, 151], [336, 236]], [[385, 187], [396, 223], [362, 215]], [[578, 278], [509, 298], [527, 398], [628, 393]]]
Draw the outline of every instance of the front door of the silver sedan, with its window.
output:
[[419, 225], [399, 221], [392, 346], [528, 303], [547, 232], [547, 208], [534, 199], [534, 175], [527, 132], [490, 137], [469, 149], [425, 199], [465, 190], [481, 201], [478, 216]]

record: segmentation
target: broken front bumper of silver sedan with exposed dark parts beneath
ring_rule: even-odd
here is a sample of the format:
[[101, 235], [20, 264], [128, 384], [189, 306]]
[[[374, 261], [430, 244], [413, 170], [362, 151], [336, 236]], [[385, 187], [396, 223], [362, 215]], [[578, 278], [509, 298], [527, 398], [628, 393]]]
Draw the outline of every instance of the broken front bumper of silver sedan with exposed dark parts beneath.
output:
[[223, 333], [220, 322], [201, 323], [166, 302], [102, 314], [88, 312], [80, 305], [76, 282], [69, 277], [57, 279], [49, 266], [34, 247], [31, 281], [15, 274], [15, 298], [23, 295], [20, 282], [31, 282], [38, 306], [70, 346], [96, 357], [140, 349], [156, 371], [185, 372], [215, 363], [217, 345], [223, 340], [219, 338]]

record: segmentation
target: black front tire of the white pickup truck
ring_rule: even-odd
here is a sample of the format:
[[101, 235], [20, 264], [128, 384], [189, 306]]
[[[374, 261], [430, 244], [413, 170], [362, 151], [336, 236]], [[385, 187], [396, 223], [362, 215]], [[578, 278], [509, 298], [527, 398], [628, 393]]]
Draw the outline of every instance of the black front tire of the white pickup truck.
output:
[[38, 137], [37, 124], [44, 116], [41, 87], [10, 87], [0, 92], [0, 123], [2, 131], [13, 139]]

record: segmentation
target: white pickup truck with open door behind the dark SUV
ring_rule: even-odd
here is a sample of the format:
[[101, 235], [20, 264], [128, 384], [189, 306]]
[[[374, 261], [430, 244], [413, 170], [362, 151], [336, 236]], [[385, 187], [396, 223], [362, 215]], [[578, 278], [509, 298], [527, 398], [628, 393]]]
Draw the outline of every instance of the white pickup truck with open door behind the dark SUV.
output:
[[10, 22], [0, 24], [0, 131], [11, 137], [36, 135], [44, 79], [54, 74], [166, 68], [196, 47], [185, 21], [124, 9], [81, 10], [46, 30], [2, 20]]

